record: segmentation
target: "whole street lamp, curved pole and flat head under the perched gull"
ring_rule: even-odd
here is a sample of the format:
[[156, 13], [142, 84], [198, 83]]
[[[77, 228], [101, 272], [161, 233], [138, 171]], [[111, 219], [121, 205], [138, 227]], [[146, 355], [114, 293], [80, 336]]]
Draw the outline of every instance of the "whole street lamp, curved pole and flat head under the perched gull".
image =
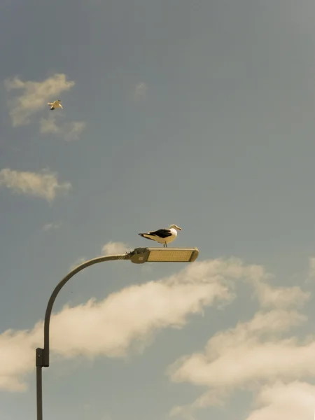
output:
[[78, 265], [64, 279], [60, 281], [53, 290], [45, 311], [44, 320], [44, 346], [43, 349], [36, 349], [36, 403], [37, 403], [37, 420], [43, 420], [43, 382], [42, 368], [49, 367], [49, 325], [53, 304], [59, 291], [64, 285], [83, 269], [99, 262], [130, 260], [134, 264], [144, 264], [144, 262], [193, 262], [199, 255], [198, 248], [135, 248], [130, 253], [120, 255], [104, 255], [102, 257], [93, 258]]

